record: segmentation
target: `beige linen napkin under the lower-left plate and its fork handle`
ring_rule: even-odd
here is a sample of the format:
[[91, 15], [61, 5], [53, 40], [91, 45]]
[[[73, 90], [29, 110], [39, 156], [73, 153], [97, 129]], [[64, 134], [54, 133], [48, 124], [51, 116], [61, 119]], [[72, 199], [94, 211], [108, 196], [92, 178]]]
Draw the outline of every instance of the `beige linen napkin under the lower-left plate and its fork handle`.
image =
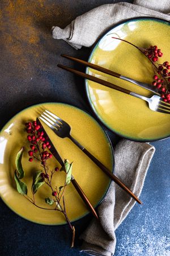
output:
[[[115, 175], [139, 197], [155, 148], [147, 143], [122, 139], [114, 149]], [[80, 236], [82, 250], [91, 255], [111, 256], [116, 246], [114, 231], [133, 208], [135, 200], [114, 182], [99, 205], [100, 225], [94, 219]], [[142, 207], [142, 206], [141, 206]]]

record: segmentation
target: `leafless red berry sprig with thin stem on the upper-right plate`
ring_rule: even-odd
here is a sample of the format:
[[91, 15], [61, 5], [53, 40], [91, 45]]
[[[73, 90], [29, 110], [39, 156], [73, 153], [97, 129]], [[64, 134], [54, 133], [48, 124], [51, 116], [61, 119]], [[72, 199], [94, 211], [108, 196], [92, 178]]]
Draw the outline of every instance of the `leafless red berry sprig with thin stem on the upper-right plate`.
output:
[[164, 61], [163, 64], [158, 63], [159, 58], [163, 56], [161, 49], [159, 49], [158, 46], [142, 48], [135, 46], [135, 44], [130, 43], [127, 40], [115, 37], [112, 38], [131, 44], [131, 46], [137, 48], [147, 57], [148, 60], [150, 60], [155, 73], [153, 77], [154, 81], [152, 81], [151, 86], [155, 86], [156, 88], [160, 89], [162, 92], [161, 97], [163, 98], [163, 101], [170, 103], [170, 65], [168, 61]]

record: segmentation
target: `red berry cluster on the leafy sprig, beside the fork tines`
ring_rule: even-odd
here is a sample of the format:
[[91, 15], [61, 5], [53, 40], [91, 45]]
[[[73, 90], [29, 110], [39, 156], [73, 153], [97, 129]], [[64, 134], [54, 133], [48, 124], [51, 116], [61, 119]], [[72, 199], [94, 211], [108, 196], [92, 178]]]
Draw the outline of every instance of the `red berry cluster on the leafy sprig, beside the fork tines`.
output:
[[[44, 137], [43, 131], [39, 131], [40, 125], [37, 125], [36, 121], [27, 122], [25, 123], [25, 126], [27, 127], [27, 133], [30, 134], [27, 136], [27, 139], [31, 142], [31, 150], [28, 151], [28, 155], [31, 156], [29, 162], [32, 162], [33, 158], [36, 158], [35, 153], [39, 151], [41, 163], [45, 164], [45, 161], [53, 156], [50, 152], [45, 151], [45, 148], [49, 149], [51, 147], [48, 138]], [[42, 152], [40, 152], [40, 147], [42, 148]]]

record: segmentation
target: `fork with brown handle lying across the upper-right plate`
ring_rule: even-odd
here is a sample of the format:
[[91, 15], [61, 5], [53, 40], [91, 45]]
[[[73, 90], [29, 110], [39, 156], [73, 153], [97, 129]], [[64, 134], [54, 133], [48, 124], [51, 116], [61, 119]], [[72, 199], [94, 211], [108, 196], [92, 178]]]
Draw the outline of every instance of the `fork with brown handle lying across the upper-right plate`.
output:
[[149, 106], [149, 108], [151, 110], [154, 110], [156, 112], [162, 112], [164, 114], [170, 114], [170, 104], [167, 103], [167, 102], [164, 102], [162, 97], [160, 97], [158, 95], [154, 95], [154, 96], [152, 96], [150, 98], [147, 98], [145, 96], [142, 96], [141, 94], [138, 94], [138, 93], [135, 93], [135, 92], [131, 92], [128, 89], [125, 89], [125, 88], [122, 88], [122, 87], [120, 87], [118, 85], [112, 84], [111, 82], [99, 79], [98, 77], [91, 76], [91, 75], [88, 75], [86, 73], [77, 71], [77, 70], [75, 70], [73, 68], [69, 68], [69, 67], [66, 67], [66, 66], [60, 65], [60, 64], [58, 64], [58, 67], [62, 68], [62, 69], [65, 69], [66, 71], [69, 71], [71, 73], [75, 73], [76, 75], [84, 77], [85, 79], [88, 79], [88, 80], [97, 82], [99, 84], [105, 85], [105, 86], [107, 86], [109, 88], [112, 88], [112, 89], [115, 89], [115, 90], [119, 90], [120, 92], [129, 94], [129, 95], [137, 97], [137, 98], [141, 98], [141, 100], [144, 100], [144, 101], [148, 102], [148, 106]]

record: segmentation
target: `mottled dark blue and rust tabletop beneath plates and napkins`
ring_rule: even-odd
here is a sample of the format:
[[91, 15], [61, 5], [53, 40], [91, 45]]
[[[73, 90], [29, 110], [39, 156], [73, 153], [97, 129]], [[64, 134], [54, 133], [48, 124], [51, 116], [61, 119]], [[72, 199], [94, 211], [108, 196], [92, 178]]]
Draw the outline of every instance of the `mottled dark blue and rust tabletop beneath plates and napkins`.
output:
[[[0, 129], [14, 114], [41, 102], [76, 105], [91, 115], [82, 79], [57, 68], [61, 53], [88, 59], [89, 48], [78, 51], [50, 35], [53, 25], [65, 27], [76, 16], [111, 0], [1, 0], [1, 107]], [[133, 1], [126, 1], [133, 2]], [[79, 67], [80, 69], [80, 67]], [[84, 70], [84, 69], [82, 69]], [[111, 141], [118, 138], [109, 132]], [[140, 199], [116, 230], [116, 256], [168, 256], [169, 248], [169, 147], [170, 139], [153, 142], [154, 158], [147, 172]], [[70, 249], [67, 226], [38, 225], [16, 215], [0, 199], [0, 255], [86, 255], [79, 252], [83, 232], [91, 220], [75, 222], [76, 241]]]

